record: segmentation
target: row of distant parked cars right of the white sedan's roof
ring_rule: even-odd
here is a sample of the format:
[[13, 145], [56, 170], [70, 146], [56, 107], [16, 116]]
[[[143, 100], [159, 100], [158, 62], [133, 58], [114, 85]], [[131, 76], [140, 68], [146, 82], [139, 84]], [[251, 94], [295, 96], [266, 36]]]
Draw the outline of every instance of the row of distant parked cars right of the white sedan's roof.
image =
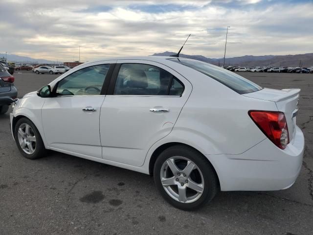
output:
[[312, 67], [232, 67], [225, 68], [235, 72], [296, 72], [296, 73], [313, 73]]

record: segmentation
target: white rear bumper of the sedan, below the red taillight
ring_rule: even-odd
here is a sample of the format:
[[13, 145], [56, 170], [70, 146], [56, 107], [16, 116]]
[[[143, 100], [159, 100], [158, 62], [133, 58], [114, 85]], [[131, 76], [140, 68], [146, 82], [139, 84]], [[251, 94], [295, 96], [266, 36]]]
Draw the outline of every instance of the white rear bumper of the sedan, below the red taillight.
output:
[[303, 159], [304, 136], [299, 127], [282, 150], [265, 139], [238, 155], [207, 155], [220, 180], [222, 191], [286, 189], [297, 179]]

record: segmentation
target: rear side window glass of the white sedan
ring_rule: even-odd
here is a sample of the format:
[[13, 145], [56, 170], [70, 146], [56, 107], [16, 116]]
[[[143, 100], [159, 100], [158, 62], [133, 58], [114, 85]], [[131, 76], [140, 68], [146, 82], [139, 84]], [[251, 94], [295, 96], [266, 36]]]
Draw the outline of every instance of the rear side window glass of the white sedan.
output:
[[122, 64], [114, 94], [181, 95], [183, 84], [170, 72], [146, 64]]

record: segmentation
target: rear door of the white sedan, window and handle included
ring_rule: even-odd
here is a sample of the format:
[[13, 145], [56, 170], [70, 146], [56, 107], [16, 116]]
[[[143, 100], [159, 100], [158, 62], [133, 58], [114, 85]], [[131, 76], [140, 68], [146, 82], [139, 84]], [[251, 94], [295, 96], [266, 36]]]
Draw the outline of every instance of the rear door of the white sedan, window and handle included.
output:
[[167, 136], [192, 90], [178, 72], [151, 61], [119, 60], [101, 107], [103, 158], [140, 166]]

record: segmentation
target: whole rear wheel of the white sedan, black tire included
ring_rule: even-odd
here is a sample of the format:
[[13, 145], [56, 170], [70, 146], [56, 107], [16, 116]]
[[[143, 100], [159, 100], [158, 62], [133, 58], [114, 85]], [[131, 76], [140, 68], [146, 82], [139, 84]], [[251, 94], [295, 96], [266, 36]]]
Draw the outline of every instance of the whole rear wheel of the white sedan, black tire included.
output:
[[[171, 164], [173, 161], [174, 165]], [[194, 164], [196, 167], [190, 171], [190, 174], [186, 170], [187, 167], [185, 168], [187, 161], [190, 161], [189, 165]], [[174, 171], [177, 169], [176, 172], [173, 172], [172, 168]], [[161, 177], [163, 184], [169, 185], [163, 186]], [[165, 179], [168, 181], [164, 181]], [[169, 147], [158, 156], [154, 166], [154, 180], [163, 198], [184, 211], [198, 209], [211, 201], [219, 190], [218, 179], [212, 165], [198, 151], [184, 145]], [[190, 187], [196, 187], [200, 191]], [[185, 202], [182, 202], [184, 200]]]

